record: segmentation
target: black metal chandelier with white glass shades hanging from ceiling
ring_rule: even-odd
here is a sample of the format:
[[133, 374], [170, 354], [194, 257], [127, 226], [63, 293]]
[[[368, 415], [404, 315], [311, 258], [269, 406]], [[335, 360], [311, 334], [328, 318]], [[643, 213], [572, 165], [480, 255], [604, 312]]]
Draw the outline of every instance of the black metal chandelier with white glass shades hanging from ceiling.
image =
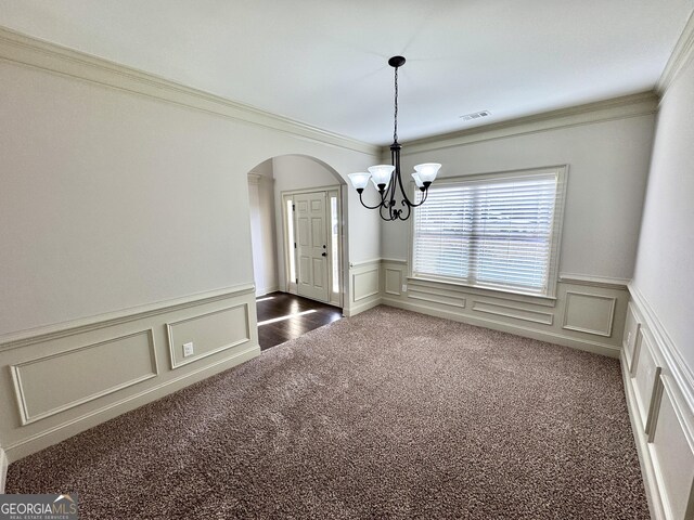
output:
[[[402, 146], [398, 143], [398, 68], [404, 65], [404, 57], [393, 56], [388, 60], [388, 65], [395, 68], [395, 129], [393, 131], [393, 144], [390, 145], [390, 161], [393, 165], [372, 166], [369, 168], [369, 173], [350, 173], [348, 177], [352, 186], [359, 193], [359, 200], [364, 208], [377, 209], [383, 220], [408, 220], [412, 208], [421, 206], [426, 200], [429, 185], [436, 179], [441, 165], [438, 162], [425, 162], [414, 167], [415, 172], [412, 173], [412, 178], [424, 195], [422, 200], [416, 204], [410, 200], [400, 177], [400, 150]], [[362, 193], [369, 185], [370, 179], [381, 195], [381, 203], [376, 206], [365, 205], [362, 198]], [[396, 208], [396, 191], [398, 188], [400, 190], [400, 205], [403, 206], [403, 209]]]

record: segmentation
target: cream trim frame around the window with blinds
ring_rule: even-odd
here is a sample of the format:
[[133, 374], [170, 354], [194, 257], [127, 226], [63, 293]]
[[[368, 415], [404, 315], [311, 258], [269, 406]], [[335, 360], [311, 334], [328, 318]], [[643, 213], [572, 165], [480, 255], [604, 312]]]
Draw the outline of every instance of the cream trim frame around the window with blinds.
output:
[[[558, 268], [562, 248], [562, 230], [564, 227], [564, 210], [566, 207], [566, 187], [568, 184], [568, 165], [547, 166], [538, 168], [526, 168], [518, 170], [506, 170], [498, 172], [472, 173], [455, 177], [439, 178], [435, 181], [434, 186], [451, 186], [466, 182], [477, 182], [485, 180], [505, 180], [523, 177], [534, 177], [542, 174], [556, 176], [556, 194], [554, 202], [554, 219], [552, 222], [552, 237], [550, 243], [550, 260], [548, 262], [548, 288], [545, 294], [527, 292], [512, 287], [493, 287], [484, 284], [471, 284], [467, 281], [454, 276], [441, 276], [435, 274], [416, 274], [414, 273], [414, 221], [415, 214], [412, 216], [409, 225], [409, 247], [408, 247], [408, 274], [409, 278], [415, 281], [429, 281], [442, 284], [454, 285], [459, 287], [471, 288], [475, 290], [485, 290], [491, 292], [502, 292], [509, 295], [519, 295], [523, 297], [538, 298], [540, 300], [555, 300], [556, 288], [558, 282]], [[410, 183], [412, 196], [415, 196], [419, 190], [414, 182]], [[424, 203], [426, 205], [426, 203]], [[413, 211], [417, 211], [414, 208]]]

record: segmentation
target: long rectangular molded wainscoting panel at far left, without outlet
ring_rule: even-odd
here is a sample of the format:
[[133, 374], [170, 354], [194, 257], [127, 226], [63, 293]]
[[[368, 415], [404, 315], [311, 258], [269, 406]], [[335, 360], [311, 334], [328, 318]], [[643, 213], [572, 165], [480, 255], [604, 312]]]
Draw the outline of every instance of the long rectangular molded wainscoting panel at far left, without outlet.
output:
[[[75, 338], [80, 341], [79, 337]], [[124, 363], [127, 360], [127, 363]], [[152, 329], [11, 365], [22, 425], [158, 374]]]

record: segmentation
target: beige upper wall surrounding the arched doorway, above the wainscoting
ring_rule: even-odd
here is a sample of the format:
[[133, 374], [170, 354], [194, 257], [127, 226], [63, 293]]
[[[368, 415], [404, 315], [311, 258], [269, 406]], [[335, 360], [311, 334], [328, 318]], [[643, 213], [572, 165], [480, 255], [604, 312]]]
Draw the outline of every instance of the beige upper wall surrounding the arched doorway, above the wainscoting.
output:
[[[300, 153], [346, 174], [374, 162], [11, 62], [0, 91], [0, 336], [252, 282], [255, 165]], [[351, 258], [378, 256], [374, 219], [355, 211]]]

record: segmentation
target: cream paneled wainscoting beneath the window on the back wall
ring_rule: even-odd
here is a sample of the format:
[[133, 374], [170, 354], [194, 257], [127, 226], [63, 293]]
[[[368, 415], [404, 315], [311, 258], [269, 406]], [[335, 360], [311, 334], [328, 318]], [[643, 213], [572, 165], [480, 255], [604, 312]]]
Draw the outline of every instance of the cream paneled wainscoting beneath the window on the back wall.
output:
[[[411, 277], [403, 260], [383, 260], [382, 270], [387, 306], [619, 356], [629, 299], [624, 281], [562, 275], [556, 298], [543, 298]], [[390, 290], [398, 278], [407, 288], [400, 294]]]

